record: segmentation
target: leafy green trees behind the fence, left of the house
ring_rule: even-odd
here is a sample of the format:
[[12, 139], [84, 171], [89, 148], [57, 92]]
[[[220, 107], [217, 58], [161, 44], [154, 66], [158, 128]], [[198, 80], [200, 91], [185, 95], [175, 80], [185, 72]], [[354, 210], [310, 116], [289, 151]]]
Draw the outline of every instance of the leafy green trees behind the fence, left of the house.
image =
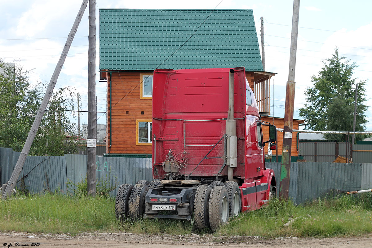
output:
[[[47, 84], [39, 83], [32, 87], [28, 71], [20, 67], [9, 67], [1, 61], [0, 68], [3, 69], [0, 70], [0, 146], [21, 151]], [[77, 152], [76, 136], [73, 135], [76, 127], [66, 110], [74, 110], [72, 92], [69, 88], [59, 88], [49, 100], [30, 155]]]

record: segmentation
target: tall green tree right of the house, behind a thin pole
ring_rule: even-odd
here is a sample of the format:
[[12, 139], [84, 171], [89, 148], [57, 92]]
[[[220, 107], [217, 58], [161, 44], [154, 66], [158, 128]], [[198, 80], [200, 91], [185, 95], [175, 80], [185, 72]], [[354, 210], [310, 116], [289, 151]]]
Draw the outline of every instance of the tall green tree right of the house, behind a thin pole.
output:
[[[314, 84], [305, 91], [307, 103], [299, 110], [299, 116], [315, 131], [352, 131], [356, 87], [352, 75], [357, 65], [344, 56], [340, 57], [337, 48], [323, 64], [318, 75], [311, 77]], [[358, 84], [355, 131], [364, 131], [367, 122], [364, 114], [368, 109], [364, 104], [365, 83], [360, 81]], [[325, 138], [345, 141], [345, 135], [339, 134], [326, 134]], [[355, 140], [361, 139], [363, 135], [355, 136]]]

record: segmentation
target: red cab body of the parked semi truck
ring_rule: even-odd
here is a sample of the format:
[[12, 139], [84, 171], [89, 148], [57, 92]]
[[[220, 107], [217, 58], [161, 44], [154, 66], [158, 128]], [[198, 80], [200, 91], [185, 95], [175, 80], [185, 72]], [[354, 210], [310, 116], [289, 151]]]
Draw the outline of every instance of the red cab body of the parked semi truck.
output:
[[[182, 164], [175, 177], [185, 178], [190, 173], [192, 178], [216, 177], [225, 162], [229, 70], [154, 71], [152, 160], [155, 179], [167, 177], [164, 161], [170, 154]], [[262, 135], [257, 136], [260, 115], [245, 68], [234, 70], [237, 167], [233, 176], [244, 182], [240, 186], [242, 210], [253, 210], [263, 204], [262, 200], [268, 199], [273, 173], [264, 168]], [[247, 97], [251, 99], [250, 105], [246, 104]], [[220, 176], [227, 175], [227, 167]]]

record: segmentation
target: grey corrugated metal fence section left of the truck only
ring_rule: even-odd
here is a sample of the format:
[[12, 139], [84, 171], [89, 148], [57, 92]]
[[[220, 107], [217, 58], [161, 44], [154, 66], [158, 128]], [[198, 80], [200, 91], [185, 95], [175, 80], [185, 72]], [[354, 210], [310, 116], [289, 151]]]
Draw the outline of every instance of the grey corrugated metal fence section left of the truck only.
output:
[[[0, 148], [1, 184], [12, 175], [20, 152], [11, 148]], [[134, 184], [138, 180], [153, 180], [151, 158], [115, 158], [96, 157], [97, 182], [106, 182], [108, 186], [117, 186], [111, 192], [116, 195], [120, 184]], [[30, 193], [44, 191], [66, 193], [69, 186], [80, 183], [86, 178], [87, 155], [27, 157], [16, 186]], [[20, 180], [23, 178], [22, 180]]]

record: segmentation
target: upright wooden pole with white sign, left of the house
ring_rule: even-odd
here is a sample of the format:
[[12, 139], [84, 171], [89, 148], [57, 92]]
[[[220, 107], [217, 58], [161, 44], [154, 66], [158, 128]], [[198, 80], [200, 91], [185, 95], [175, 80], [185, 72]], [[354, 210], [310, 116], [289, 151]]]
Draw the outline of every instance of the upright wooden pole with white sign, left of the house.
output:
[[[89, 0], [88, 34], [88, 138], [87, 182], [88, 196], [96, 196], [96, 0]], [[89, 144], [90, 143], [90, 144]]]

